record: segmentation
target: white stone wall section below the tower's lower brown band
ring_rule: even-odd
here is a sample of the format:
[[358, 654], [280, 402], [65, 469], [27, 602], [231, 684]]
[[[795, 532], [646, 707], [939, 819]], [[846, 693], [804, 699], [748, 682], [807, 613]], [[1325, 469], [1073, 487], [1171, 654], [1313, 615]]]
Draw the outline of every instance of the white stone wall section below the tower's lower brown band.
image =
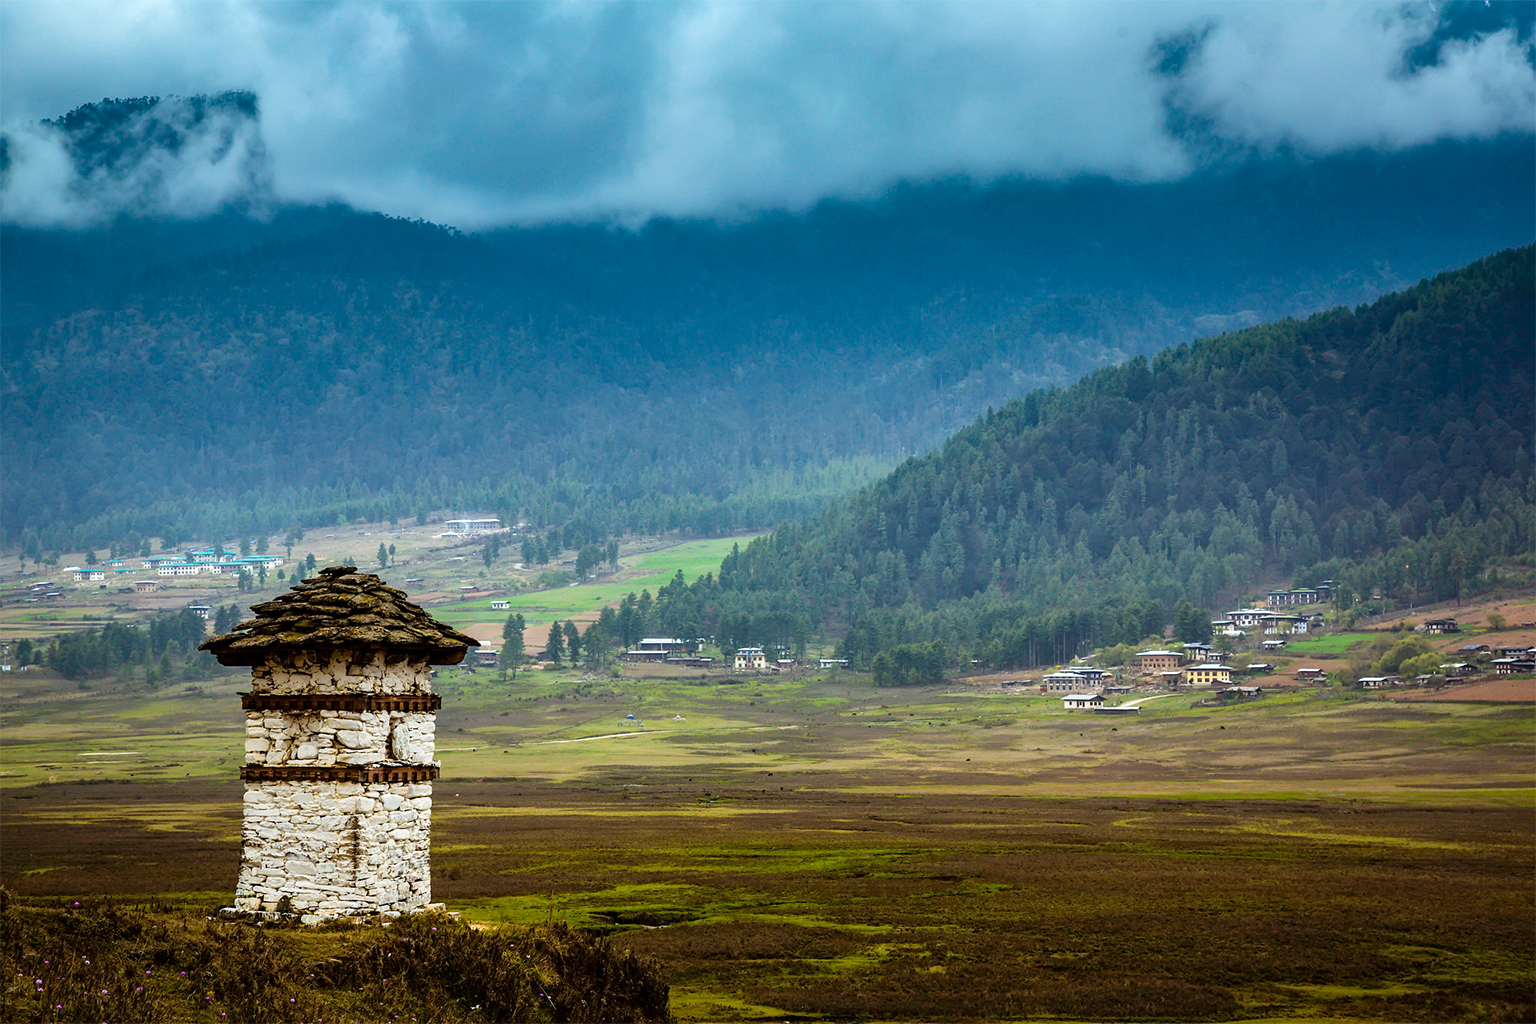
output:
[[237, 910], [319, 924], [429, 903], [432, 783], [246, 785]]

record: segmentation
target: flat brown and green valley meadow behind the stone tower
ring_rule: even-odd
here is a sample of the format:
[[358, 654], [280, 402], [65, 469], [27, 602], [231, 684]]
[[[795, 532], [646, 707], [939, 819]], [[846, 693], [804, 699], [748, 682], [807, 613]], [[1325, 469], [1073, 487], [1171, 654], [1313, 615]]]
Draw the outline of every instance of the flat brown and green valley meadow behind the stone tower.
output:
[[[1536, 1018], [1528, 705], [436, 685], [436, 898], [654, 958], [684, 1021]], [[0, 686], [17, 903], [229, 901], [241, 676]]]

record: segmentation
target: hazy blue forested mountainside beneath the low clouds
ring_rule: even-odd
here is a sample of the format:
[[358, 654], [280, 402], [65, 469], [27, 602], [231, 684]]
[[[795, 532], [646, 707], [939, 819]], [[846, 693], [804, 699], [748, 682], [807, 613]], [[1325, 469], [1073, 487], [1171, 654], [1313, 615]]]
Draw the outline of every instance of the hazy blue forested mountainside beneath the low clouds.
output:
[[596, 536], [770, 527], [989, 405], [1372, 299], [1536, 223], [1528, 140], [1501, 140], [465, 236], [270, 207], [257, 111], [118, 100], [51, 124], [126, 209], [134, 187], [158, 209], [177, 154], [238, 158], [221, 181], [247, 186], [186, 220], [0, 229], [0, 543], [444, 508]]

